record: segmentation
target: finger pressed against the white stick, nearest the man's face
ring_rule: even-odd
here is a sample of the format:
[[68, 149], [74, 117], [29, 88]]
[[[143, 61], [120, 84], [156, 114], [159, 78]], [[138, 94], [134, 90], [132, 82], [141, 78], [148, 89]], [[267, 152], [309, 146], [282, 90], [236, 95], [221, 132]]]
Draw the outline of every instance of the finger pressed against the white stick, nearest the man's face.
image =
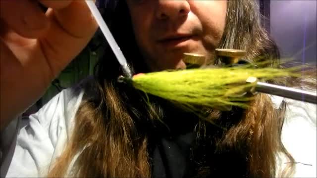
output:
[[49, 9], [47, 16], [51, 27], [40, 43], [56, 76], [88, 44], [98, 25], [84, 0], [60, 10]]

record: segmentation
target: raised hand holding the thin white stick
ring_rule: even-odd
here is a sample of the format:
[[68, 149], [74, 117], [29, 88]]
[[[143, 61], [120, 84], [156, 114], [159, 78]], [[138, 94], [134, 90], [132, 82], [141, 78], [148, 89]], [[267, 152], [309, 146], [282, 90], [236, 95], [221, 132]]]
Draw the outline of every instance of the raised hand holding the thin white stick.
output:
[[[38, 3], [50, 7], [45, 13]], [[0, 129], [38, 100], [98, 25], [84, 0], [0, 0]]]

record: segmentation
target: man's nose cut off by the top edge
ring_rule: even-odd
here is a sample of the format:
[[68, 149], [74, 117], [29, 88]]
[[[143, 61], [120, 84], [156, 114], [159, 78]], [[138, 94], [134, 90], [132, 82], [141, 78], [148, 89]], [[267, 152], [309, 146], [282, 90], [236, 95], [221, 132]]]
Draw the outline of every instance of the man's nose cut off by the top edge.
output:
[[156, 16], [158, 19], [177, 19], [190, 12], [187, 0], [158, 0]]

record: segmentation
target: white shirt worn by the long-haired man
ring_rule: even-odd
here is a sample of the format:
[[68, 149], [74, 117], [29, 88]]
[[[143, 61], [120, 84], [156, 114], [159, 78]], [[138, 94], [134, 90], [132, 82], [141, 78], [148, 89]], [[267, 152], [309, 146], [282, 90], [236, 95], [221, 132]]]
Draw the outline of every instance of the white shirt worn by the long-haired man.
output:
[[[82, 100], [84, 91], [65, 89], [54, 96], [37, 113], [29, 118], [28, 125], [22, 127], [13, 140], [12, 155], [2, 155], [9, 166], [1, 166], [1, 177], [45, 177], [67, 143], [74, 125], [74, 116]], [[275, 107], [283, 98], [272, 96]], [[295, 178], [317, 178], [317, 130], [315, 104], [286, 99], [285, 122], [282, 141], [286, 149], [298, 162]], [[14, 148], [15, 144], [15, 148]], [[74, 161], [73, 161], [74, 162]], [[282, 159], [278, 170], [286, 166]], [[71, 163], [72, 164], [72, 163]], [[70, 166], [71, 167], [71, 166]]]

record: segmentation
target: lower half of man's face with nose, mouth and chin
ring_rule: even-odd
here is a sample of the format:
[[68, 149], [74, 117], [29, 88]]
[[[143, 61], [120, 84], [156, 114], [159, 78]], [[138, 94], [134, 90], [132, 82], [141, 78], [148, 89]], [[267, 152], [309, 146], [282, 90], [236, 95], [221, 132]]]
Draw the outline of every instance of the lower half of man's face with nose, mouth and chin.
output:
[[137, 44], [152, 71], [184, 69], [184, 52], [211, 58], [226, 0], [127, 0]]

